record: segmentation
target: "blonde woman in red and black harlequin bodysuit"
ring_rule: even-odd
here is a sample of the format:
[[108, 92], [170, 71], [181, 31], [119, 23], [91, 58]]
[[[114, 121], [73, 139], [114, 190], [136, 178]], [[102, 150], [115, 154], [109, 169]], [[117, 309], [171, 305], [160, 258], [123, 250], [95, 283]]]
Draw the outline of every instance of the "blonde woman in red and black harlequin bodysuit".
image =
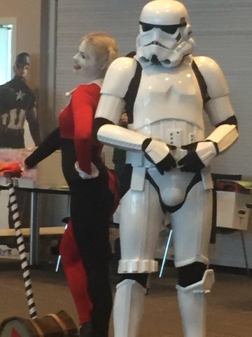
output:
[[[92, 124], [102, 80], [116, 57], [113, 37], [102, 32], [83, 37], [73, 67], [85, 84], [71, 92], [69, 104], [59, 114], [59, 128], [25, 160], [29, 169], [62, 149], [62, 170], [71, 192], [71, 221], [60, 253], [79, 315], [80, 337], [107, 337], [109, 333], [109, 220], [118, 194], [116, 178], [101, 159], [103, 145], [92, 137]], [[19, 176], [20, 166], [14, 163], [0, 171]]]

